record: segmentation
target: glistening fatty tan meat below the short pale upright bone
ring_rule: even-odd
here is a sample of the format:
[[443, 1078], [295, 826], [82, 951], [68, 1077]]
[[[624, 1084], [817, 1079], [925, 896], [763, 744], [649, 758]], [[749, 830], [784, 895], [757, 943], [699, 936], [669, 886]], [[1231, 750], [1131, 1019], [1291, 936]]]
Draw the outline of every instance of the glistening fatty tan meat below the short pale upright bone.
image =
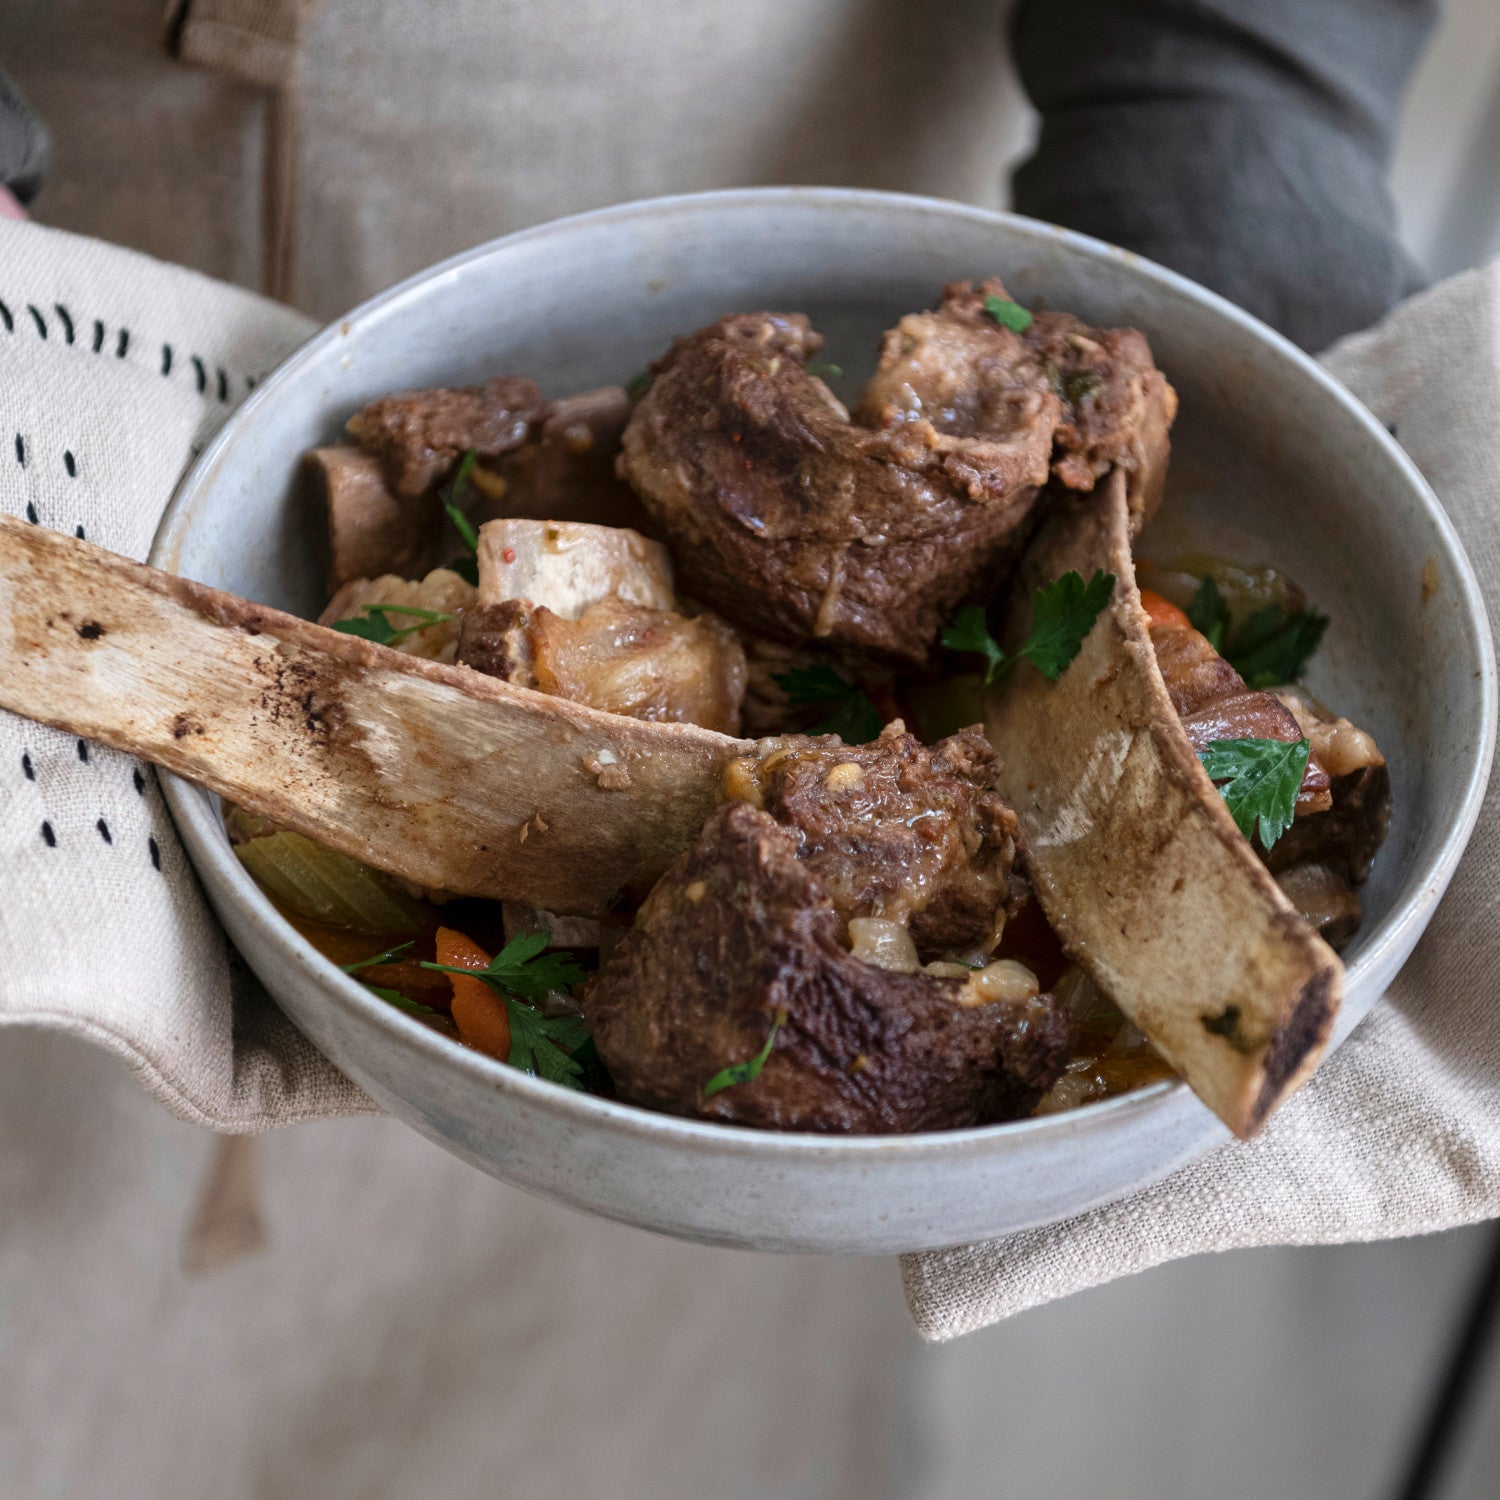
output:
[[458, 660], [520, 687], [628, 718], [740, 732], [746, 658], [712, 615], [606, 598], [578, 620], [512, 598], [464, 620]]

